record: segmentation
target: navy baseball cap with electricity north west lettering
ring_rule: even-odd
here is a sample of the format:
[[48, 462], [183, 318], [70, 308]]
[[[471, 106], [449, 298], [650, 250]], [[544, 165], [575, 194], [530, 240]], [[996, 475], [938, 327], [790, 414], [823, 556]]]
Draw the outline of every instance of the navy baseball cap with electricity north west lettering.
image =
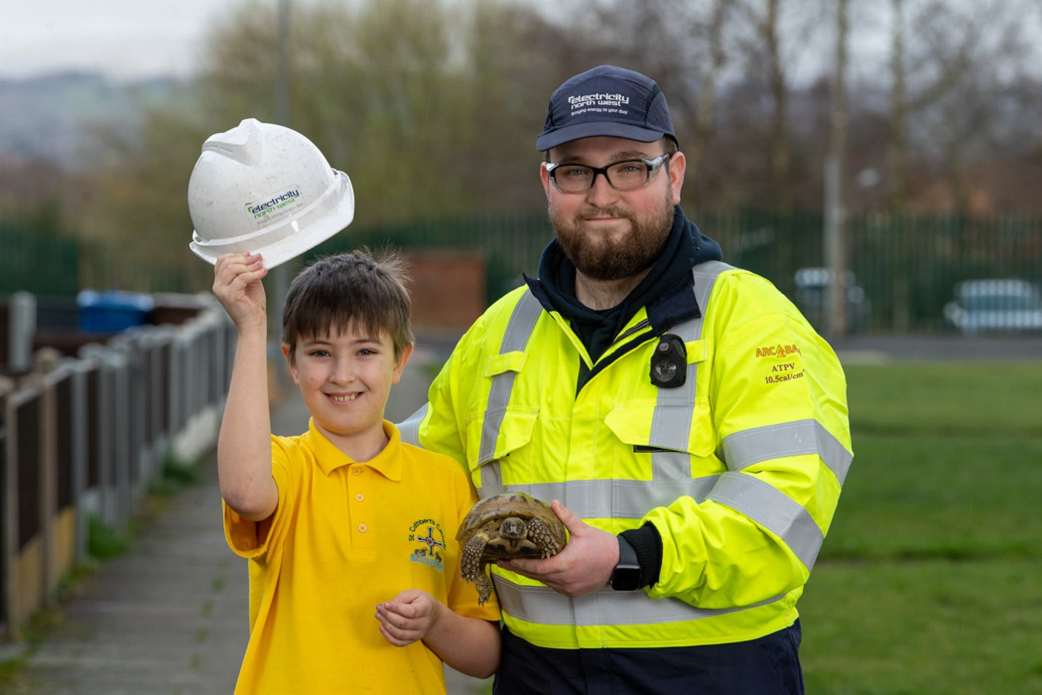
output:
[[550, 97], [536, 149], [545, 152], [595, 135], [642, 143], [669, 135], [676, 142], [666, 95], [654, 80], [615, 66], [598, 66], [572, 77]]

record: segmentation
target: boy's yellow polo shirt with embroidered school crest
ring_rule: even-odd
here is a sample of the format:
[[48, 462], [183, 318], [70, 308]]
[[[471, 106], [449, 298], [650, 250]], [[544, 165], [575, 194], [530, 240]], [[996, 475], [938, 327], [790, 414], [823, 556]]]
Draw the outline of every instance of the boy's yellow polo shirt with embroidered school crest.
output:
[[456, 527], [476, 501], [448, 456], [402, 444], [355, 463], [312, 421], [272, 437], [278, 507], [263, 522], [224, 505], [228, 545], [249, 559], [250, 641], [235, 693], [444, 693], [442, 662], [422, 642], [396, 647], [376, 604], [422, 589], [460, 615], [499, 620], [460, 578]]

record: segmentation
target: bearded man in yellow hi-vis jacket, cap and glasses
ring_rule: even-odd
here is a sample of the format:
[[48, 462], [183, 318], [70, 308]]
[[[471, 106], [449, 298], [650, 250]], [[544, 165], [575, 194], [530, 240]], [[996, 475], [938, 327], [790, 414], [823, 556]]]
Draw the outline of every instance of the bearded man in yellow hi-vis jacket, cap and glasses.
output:
[[493, 569], [495, 692], [802, 693], [795, 609], [849, 468], [836, 354], [679, 207], [665, 96], [601, 66], [553, 93], [539, 279], [461, 340], [402, 437], [570, 540]]

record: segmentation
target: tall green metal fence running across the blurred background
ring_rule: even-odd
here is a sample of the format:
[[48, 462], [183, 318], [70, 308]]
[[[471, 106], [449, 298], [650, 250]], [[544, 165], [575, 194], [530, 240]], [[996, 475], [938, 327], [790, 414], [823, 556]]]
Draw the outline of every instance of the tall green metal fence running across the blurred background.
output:
[[[700, 213], [691, 218], [704, 233], [717, 240], [724, 259], [764, 275], [785, 292], [815, 323], [827, 314], [820, 215], [778, 215], [756, 210]], [[45, 248], [15, 248], [5, 241], [10, 230], [0, 228], [0, 292], [14, 282], [8, 267], [26, 275], [26, 268], [41, 266]], [[487, 302], [517, 287], [521, 272], [535, 275], [539, 257], [552, 238], [545, 215], [512, 215], [423, 220], [410, 224], [351, 227], [321, 245], [306, 258], [358, 246], [390, 245], [403, 250], [455, 249], [480, 253], [487, 263]], [[47, 241], [47, 244], [52, 241]], [[20, 238], [18, 244], [25, 244]], [[44, 242], [41, 242], [44, 244]], [[147, 252], [147, 248], [146, 248]], [[64, 254], [64, 255], [63, 255]], [[153, 254], [154, 255], [154, 254]], [[850, 330], [971, 331], [985, 323], [969, 320], [968, 306], [981, 304], [993, 321], [991, 329], [1042, 330], [1042, 219], [963, 216], [866, 216], [846, 224], [846, 286]], [[38, 259], [33, 263], [33, 258]], [[153, 292], [208, 287], [212, 272], [184, 251], [178, 263], [163, 263], [135, 255], [125, 248], [113, 253], [102, 247], [83, 248], [78, 268], [68, 251], [48, 258], [47, 267], [64, 265], [52, 275], [64, 278], [49, 286], [51, 293], [72, 292], [70, 277], [95, 288], [119, 284]], [[70, 265], [71, 264], [71, 265]], [[300, 267], [300, 262], [296, 264]], [[17, 266], [17, 268], [16, 268]], [[42, 267], [42, 266], [41, 266]], [[801, 272], [809, 271], [809, 272]], [[50, 275], [48, 275], [50, 277]], [[1019, 279], [1025, 284], [960, 286], [964, 280]], [[36, 284], [51, 282], [31, 278]], [[825, 278], [827, 279], [827, 278]], [[26, 287], [30, 287], [27, 284]], [[990, 305], [988, 302], [991, 302]], [[1021, 307], [1017, 309], [1016, 307]], [[1019, 314], [1017, 313], [1019, 311]], [[1037, 325], [1035, 323], [1037, 322]]]

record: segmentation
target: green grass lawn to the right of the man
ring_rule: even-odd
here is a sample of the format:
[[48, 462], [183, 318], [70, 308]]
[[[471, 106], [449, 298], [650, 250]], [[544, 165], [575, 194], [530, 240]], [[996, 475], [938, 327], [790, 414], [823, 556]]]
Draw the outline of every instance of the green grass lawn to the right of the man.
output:
[[1042, 365], [851, 366], [809, 693], [1042, 693]]

